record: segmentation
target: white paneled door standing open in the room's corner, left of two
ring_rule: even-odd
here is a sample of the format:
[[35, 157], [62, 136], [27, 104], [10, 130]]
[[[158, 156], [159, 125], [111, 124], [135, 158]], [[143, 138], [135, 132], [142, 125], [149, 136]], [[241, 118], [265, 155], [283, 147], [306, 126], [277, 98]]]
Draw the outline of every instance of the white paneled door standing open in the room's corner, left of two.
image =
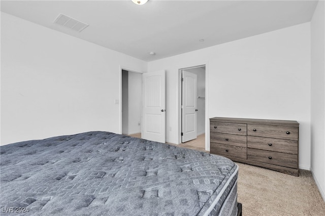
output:
[[166, 142], [166, 75], [165, 70], [143, 75], [142, 138]]

